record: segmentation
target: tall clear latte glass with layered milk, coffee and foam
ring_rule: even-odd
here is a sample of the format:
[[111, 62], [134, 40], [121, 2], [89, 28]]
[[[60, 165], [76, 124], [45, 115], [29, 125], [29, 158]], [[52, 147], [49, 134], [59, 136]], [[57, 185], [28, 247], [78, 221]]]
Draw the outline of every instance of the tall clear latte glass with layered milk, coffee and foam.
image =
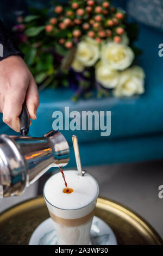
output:
[[[89, 245], [92, 218], [99, 193], [97, 181], [88, 173], [64, 172], [69, 193], [61, 173], [49, 178], [43, 188], [49, 214], [59, 245]], [[72, 189], [72, 190], [71, 190]]]

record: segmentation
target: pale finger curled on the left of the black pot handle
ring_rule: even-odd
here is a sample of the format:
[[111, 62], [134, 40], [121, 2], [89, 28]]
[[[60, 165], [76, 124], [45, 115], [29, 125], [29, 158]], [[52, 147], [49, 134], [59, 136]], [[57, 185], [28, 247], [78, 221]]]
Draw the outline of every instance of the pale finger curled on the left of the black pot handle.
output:
[[4, 97], [3, 121], [13, 130], [20, 131], [19, 115], [26, 96], [26, 87], [22, 86], [8, 90]]

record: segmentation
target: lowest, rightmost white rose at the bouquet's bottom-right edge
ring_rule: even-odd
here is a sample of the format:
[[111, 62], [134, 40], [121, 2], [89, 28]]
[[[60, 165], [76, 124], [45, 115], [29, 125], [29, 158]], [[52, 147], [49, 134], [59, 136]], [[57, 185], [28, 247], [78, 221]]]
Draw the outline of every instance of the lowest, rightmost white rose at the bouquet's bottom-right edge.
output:
[[139, 66], [133, 66], [120, 74], [120, 81], [113, 91], [114, 96], [133, 96], [145, 92], [145, 72]]

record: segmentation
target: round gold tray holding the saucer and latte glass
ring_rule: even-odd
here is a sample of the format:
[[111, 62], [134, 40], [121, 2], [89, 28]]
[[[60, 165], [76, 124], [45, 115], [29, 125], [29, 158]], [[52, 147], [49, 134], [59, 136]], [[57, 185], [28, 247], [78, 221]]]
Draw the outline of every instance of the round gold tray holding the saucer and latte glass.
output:
[[[118, 245], [163, 245], [161, 237], [133, 211], [98, 198], [95, 215], [114, 231]], [[0, 215], [0, 245], [28, 245], [35, 228], [49, 217], [43, 197], [18, 204]]]

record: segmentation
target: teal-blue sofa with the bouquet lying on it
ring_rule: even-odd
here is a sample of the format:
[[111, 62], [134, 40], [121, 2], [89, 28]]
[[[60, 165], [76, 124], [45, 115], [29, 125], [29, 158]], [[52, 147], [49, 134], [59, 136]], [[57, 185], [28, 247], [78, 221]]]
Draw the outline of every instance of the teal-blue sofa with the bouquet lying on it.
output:
[[[61, 131], [70, 144], [70, 163], [74, 166], [71, 136], [77, 135], [83, 166], [137, 162], [163, 157], [163, 57], [159, 57], [162, 32], [139, 24], [139, 40], [135, 45], [143, 54], [137, 59], [146, 73], [145, 94], [130, 99], [114, 97], [71, 101], [69, 89], [45, 89], [40, 92], [37, 120], [30, 126], [30, 136], [42, 136], [52, 129], [52, 113], [70, 111], [111, 111], [111, 135], [101, 137], [100, 131]], [[15, 134], [1, 120], [1, 133]]]

